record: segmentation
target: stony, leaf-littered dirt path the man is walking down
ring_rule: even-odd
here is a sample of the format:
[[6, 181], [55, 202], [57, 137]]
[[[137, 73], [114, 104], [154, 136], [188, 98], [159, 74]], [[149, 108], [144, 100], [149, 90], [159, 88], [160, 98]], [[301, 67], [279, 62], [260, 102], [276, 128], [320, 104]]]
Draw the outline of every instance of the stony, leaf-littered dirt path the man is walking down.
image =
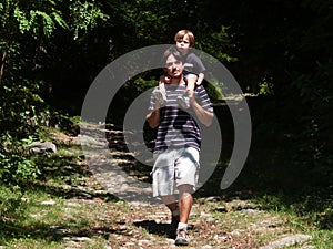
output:
[[[149, 169], [140, 168], [142, 164], [135, 163], [125, 149], [123, 133], [121, 129], [102, 129], [102, 126], [90, 126], [104, 133], [102, 141], [89, 137], [85, 139], [94, 146], [102, 148], [108, 143], [111, 160], [117, 160], [125, 169], [120, 178], [110, 170], [99, 170], [83, 177], [75, 186], [63, 186], [71, 189], [71, 197], [65, 201], [64, 214], [67, 217], [80, 216], [87, 220], [84, 229], [71, 234], [69, 228], [53, 227], [56, 234], [61, 235], [64, 247], [72, 248], [174, 248], [174, 231], [170, 226], [170, 212], [159, 201], [123, 201], [119, 199], [119, 189], [122, 183], [127, 183], [121, 189], [124, 193], [140, 193], [140, 187], [131, 186], [131, 179], [137, 177], [149, 183]], [[71, 146], [81, 145], [82, 134], [67, 136], [54, 134], [54, 139], [62, 141]], [[92, 151], [94, 154], [98, 151]], [[97, 153], [99, 154], [99, 153]], [[93, 155], [89, 155], [92, 156]], [[99, 155], [94, 155], [99, 159]], [[100, 169], [108, 166], [102, 160]], [[78, 162], [87, 164], [87, 160]], [[91, 162], [90, 162], [91, 163]], [[89, 165], [89, 167], [91, 167]], [[147, 175], [148, 174], [148, 175]], [[110, 181], [110, 183], [108, 183]], [[107, 186], [107, 187], [105, 187]], [[117, 186], [117, 187], [115, 187]], [[150, 194], [149, 189], [145, 189]], [[145, 199], [147, 200], [147, 199]], [[48, 204], [49, 205], [49, 204]], [[261, 205], [245, 194], [239, 193], [232, 197], [215, 195], [195, 198], [189, 221], [191, 243], [185, 248], [314, 248], [311, 246], [311, 236], [304, 234], [302, 228], [295, 226], [296, 217], [286, 214], [264, 210]], [[101, 247], [101, 245], [103, 245]]]

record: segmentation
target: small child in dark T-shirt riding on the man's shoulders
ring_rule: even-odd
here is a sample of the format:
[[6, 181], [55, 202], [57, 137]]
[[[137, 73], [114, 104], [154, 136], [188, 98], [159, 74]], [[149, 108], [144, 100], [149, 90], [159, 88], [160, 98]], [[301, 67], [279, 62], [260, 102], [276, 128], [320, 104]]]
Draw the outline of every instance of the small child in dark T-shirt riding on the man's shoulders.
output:
[[[174, 35], [175, 46], [184, 56], [184, 80], [186, 82], [186, 91], [183, 95], [178, 96], [178, 102], [182, 108], [190, 107], [190, 98], [188, 93], [194, 91], [195, 84], [200, 85], [204, 79], [203, 72], [205, 68], [200, 60], [200, 58], [191, 52], [191, 49], [194, 46], [194, 35], [189, 30], [180, 30]], [[155, 96], [161, 106], [167, 103], [165, 95], [165, 84], [168, 84], [170, 79], [165, 76], [160, 77], [158, 96]]]

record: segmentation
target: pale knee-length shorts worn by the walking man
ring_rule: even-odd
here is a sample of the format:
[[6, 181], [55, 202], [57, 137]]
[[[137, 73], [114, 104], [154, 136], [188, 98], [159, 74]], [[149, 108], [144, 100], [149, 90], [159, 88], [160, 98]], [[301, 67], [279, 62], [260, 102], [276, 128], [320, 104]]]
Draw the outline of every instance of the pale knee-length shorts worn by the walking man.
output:
[[191, 185], [194, 193], [199, 176], [199, 152], [193, 147], [154, 153], [153, 196], [175, 194], [180, 185]]

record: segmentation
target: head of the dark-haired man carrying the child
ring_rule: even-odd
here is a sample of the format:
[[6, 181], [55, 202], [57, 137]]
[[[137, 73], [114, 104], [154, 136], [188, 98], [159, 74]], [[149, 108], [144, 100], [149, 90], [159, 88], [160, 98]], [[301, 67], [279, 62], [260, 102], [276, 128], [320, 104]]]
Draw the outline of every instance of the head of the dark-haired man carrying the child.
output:
[[174, 46], [164, 52], [162, 62], [164, 63], [164, 71], [170, 77], [183, 75], [183, 56]]

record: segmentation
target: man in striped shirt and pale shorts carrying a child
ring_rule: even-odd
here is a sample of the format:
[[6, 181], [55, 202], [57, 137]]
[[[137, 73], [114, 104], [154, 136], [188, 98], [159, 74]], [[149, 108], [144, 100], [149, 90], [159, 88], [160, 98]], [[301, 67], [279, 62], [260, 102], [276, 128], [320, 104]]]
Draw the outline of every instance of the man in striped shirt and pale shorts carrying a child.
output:
[[[150, 127], [158, 127], [154, 148], [155, 163], [152, 170], [153, 196], [160, 196], [172, 212], [172, 224], [176, 226], [175, 245], [186, 246], [188, 221], [193, 204], [192, 194], [198, 183], [201, 133], [199, 120], [210, 126], [213, 120], [211, 101], [202, 85], [189, 93], [191, 108], [182, 110], [178, 96], [185, 89], [183, 80], [183, 58], [175, 48], [163, 54], [164, 71], [170, 77], [167, 86], [167, 104], [161, 107], [157, 101], [157, 86], [150, 101], [147, 121]], [[194, 93], [195, 92], [195, 93]], [[178, 190], [178, 200], [175, 191]]]

